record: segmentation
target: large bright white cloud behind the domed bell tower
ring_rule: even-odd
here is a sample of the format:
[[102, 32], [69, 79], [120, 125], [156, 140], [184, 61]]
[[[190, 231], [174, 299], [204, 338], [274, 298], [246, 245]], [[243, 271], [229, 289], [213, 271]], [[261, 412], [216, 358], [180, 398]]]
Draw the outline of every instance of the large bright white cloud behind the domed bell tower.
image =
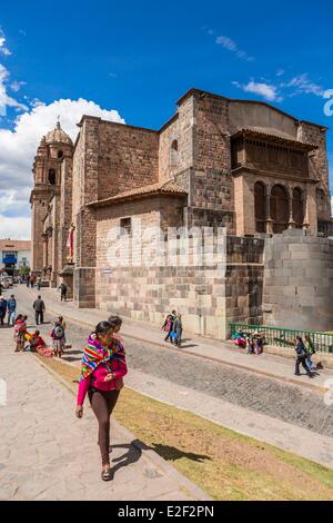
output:
[[17, 118], [13, 130], [0, 129], [0, 237], [30, 237], [30, 218], [27, 216], [37, 147], [41, 137], [54, 128], [58, 116], [62, 128], [74, 140], [82, 115], [124, 122], [117, 110], [102, 109], [82, 98], [56, 100], [50, 105], [38, 100], [33, 109]]

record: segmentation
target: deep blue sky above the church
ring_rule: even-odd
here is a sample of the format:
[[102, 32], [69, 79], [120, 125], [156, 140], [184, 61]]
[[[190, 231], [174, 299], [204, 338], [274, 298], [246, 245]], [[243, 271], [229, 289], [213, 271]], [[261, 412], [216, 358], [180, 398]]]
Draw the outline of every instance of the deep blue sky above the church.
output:
[[[127, 124], [159, 128], [191, 87], [265, 100], [333, 127], [323, 111], [333, 89], [332, 20], [333, 7], [323, 0], [9, 2], [0, 13], [10, 106], [0, 118], [0, 146], [1, 130], [16, 139], [16, 119], [60, 99], [91, 100]], [[333, 166], [332, 132], [329, 155]], [[0, 156], [4, 179], [2, 172]], [[3, 216], [28, 217], [29, 207], [16, 207], [8, 189], [0, 179], [0, 204], [11, 197]]]

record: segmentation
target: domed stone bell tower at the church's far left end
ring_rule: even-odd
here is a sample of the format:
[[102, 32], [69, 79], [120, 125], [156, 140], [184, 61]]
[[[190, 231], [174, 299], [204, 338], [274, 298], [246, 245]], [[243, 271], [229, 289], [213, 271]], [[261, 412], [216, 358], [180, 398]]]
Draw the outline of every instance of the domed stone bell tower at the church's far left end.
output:
[[32, 166], [31, 269], [34, 273], [41, 273], [43, 267], [43, 221], [48, 205], [60, 195], [61, 165], [64, 158], [72, 158], [72, 155], [73, 142], [58, 121], [54, 129], [42, 137]]

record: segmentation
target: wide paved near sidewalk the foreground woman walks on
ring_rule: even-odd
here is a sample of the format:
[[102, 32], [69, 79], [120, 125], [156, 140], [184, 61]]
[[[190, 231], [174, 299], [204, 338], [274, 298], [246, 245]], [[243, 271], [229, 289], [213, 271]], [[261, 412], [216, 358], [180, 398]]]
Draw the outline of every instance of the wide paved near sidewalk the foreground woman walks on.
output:
[[[112, 420], [112, 482], [100, 478], [97, 421], [74, 415], [68, 385], [32, 354], [13, 353], [12, 329], [0, 329], [0, 500], [209, 500], [196, 485]], [[121, 401], [121, 398], [120, 398]]]

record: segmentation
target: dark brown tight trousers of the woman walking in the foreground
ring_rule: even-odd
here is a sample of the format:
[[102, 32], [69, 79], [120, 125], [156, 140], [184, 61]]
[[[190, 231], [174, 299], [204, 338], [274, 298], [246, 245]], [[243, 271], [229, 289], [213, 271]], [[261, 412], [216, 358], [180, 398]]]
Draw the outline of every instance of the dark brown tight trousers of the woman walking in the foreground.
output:
[[117, 404], [120, 391], [97, 391], [91, 388], [88, 391], [89, 401], [93, 414], [99, 422], [99, 446], [101, 451], [102, 465], [110, 463], [110, 416]]

